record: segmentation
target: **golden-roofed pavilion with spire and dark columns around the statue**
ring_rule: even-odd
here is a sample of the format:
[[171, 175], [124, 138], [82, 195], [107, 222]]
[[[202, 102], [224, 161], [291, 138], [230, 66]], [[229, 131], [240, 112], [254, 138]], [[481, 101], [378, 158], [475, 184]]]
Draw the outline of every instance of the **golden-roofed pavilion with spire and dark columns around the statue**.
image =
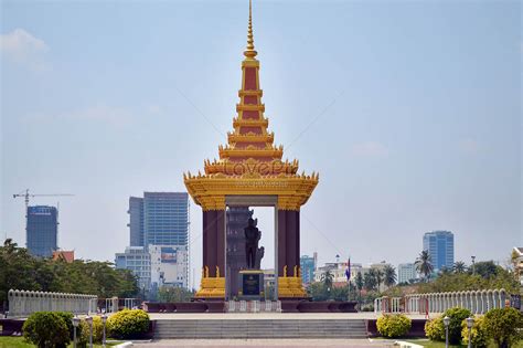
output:
[[319, 175], [298, 173], [298, 160], [282, 160], [284, 147], [274, 145], [262, 103], [259, 61], [254, 48], [249, 3], [247, 48], [242, 61], [242, 88], [227, 145], [220, 159], [204, 161], [204, 173], [184, 173], [189, 194], [203, 210], [203, 270], [195, 297], [225, 299], [227, 207], [275, 208], [275, 276], [278, 298], [303, 298], [300, 273], [300, 207]]

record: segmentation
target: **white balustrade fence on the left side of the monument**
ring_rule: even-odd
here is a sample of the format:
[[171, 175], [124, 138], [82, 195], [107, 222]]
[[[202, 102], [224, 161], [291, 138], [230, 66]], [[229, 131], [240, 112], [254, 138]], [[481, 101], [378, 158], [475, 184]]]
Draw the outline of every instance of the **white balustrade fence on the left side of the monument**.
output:
[[98, 297], [95, 295], [44, 293], [10, 289], [8, 293], [9, 317], [28, 317], [35, 312], [95, 313]]

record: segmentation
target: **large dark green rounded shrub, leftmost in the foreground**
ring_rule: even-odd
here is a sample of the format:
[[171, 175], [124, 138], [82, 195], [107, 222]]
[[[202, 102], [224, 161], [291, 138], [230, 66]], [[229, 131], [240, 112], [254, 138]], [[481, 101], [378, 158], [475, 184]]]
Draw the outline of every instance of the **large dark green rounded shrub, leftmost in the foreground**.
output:
[[23, 337], [39, 348], [66, 347], [71, 333], [63, 315], [53, 312], [33, 313], [23, 324]]

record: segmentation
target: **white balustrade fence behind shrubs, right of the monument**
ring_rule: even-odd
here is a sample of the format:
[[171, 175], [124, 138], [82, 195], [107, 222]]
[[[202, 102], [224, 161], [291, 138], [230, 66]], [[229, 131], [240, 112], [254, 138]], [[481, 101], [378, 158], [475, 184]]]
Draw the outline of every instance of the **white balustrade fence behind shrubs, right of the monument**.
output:
[[503, 308], [508, 299], [509, 296], [503, 288], [413, 294], [405, 296], [405, 313], [442, 313], [452, 307], [461, 307], [472, 314], [485, 314], [493, 308]]

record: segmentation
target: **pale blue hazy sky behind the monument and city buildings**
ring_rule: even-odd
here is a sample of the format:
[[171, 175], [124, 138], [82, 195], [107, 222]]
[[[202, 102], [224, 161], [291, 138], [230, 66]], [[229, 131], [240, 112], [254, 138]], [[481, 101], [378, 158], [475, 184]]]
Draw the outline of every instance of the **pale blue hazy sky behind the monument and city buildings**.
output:
[[[60, 246], [113, 260], [128, 197], [184, 190], [182, 172], [226, 143], [248, 3], [1, 8], [0, 231], [24, 243], [12, 193], [71, 192]], [[523, 244], [521, 14], [519, 1], [254, 1], [275, 143], [320, 172], [302, 253], [397, 264], [438, 229], [466, 262]], [[198, 270], [194, 204], [192, 222]]]

